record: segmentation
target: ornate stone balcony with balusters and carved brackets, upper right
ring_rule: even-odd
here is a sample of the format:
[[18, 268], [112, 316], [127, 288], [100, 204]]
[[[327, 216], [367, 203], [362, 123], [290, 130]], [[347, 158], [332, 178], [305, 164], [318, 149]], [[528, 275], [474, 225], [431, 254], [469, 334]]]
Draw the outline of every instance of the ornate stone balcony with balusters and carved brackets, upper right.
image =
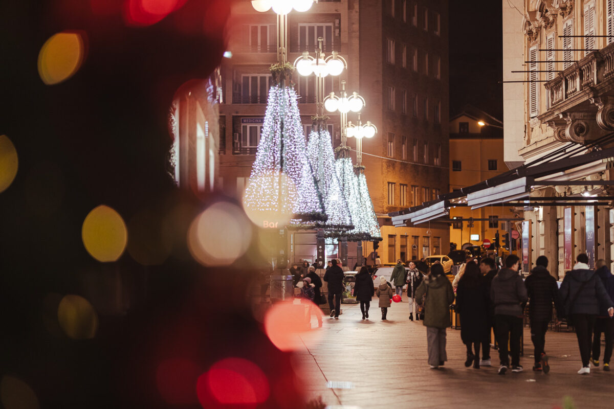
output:
[[544, 83], [546, 112], [537, 117], [560, 142], [585, 143], [614, 131], [614, 43]]

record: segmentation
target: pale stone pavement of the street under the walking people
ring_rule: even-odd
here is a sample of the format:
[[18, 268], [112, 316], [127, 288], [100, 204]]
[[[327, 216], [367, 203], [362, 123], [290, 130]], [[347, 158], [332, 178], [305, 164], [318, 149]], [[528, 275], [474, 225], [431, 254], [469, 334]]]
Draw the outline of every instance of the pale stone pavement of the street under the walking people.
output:
[[[580, 354], [575, 334], [546, 334], [551, 370], [535, 373], [529, 329], [524, 332], [524, 372], [497, 375], [498, 352], [491, 350], [492, 367], [465, 368], [461, 331], [448, 329], [445, 369], [427, 364], [426, 329], [408, 320], [408, 305], [389, 308], [381, 321], [377, 300], [370, 319], [363, 321], [360, 307], [342, 304], [340, 319], [324, 318], [324, 326], [303, 336], [304, 350], [295, 354], [297, 372], [311, 398], [346, 409], [392, 408], [558, 408], [569, 396], [575, 408], [614, 407], [614, 372], [602, 366], [590, 375], [578, 375]], [[324, 332], [314, 341], [314, 332]], [[603, 351], [602, 351], [603, 353]], [[329, 384], [332, 383], [332, 384]], [[335, 386], [336, 388], [328, 388]]]

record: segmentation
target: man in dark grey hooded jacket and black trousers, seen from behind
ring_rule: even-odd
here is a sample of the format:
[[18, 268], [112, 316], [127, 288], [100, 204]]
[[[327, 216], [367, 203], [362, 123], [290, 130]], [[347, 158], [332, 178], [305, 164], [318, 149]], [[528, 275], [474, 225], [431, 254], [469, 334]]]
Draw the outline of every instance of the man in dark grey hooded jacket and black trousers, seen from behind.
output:
[[499, 344], [499, 375], [505, 375], [510, 366], [508, 342], [511, 354], [511, 372], [522, 372], [520, 365], [520, 337], [523, 334], [523, 311], [527, 302], [527, 288], [518, 274], [520, 259], [510, 254], [505, 259], [505, 269], [500, 270], [491, 284], [491, 299], [495, 304], [495, 336]]

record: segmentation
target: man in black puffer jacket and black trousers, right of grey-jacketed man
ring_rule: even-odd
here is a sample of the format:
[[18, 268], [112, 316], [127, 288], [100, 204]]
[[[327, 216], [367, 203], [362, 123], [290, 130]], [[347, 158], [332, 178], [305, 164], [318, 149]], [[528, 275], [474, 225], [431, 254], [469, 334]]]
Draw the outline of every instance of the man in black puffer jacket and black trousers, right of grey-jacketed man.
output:
[[552, 305], [556, 307], [556, 315], [564, 315], [559, 286], [556, 278], [548, 272], [548, 258], [539, 256], [535, 261], [535, 268], [531, 270], [529, 277], [524, 280], [529, 296], [529, 319], [531, 326], [531, 341], [535, 346], [533, 370], [543, 373], [550, 371], [548, 355], [544, 350], [546, 343], [546, 331], [552, 319]]

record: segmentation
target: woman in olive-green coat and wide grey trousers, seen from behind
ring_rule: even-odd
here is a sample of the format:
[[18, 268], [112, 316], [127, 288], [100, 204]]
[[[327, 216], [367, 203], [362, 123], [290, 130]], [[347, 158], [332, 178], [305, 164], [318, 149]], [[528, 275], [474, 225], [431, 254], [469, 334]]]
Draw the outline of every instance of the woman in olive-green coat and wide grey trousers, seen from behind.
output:
[[424, 277], [416, 290], [416, 298], [424, 296], [427, 351], [431, 369], [437, 369], [448, 361], [446, 355], [446, 328], [452, 325], [450, 304], [454, 301], [454, 290], [450, 280], [443, 273], [441, 264], [433, 264], [430, 274]]

